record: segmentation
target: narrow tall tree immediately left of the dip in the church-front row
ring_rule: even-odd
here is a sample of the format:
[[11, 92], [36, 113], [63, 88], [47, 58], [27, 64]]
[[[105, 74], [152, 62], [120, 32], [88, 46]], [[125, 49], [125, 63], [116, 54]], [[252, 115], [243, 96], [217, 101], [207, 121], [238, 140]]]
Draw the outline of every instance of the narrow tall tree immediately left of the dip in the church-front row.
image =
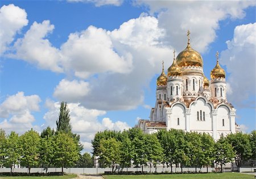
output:
[[201, 135], [201, 140], [203, 143], [203, 158], [201, 160], [201, 164], [207, 166], [208, 173], [208, 165], [212, 165], [214, 161], [214, 140], [209, 134], [205, 133]]

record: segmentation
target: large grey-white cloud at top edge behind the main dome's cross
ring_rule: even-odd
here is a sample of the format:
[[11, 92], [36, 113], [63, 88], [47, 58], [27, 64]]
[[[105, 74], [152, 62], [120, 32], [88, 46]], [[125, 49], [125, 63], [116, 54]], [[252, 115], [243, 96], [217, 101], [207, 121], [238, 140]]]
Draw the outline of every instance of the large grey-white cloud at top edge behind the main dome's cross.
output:
[[219, 22], [226, 18], [241, 19], [245, 8], [255, 1], [137, 1], [146, 5], [151, 14], [158, 14], [159, 27], [166, 29], [166, 43], [177, 51], [185, 48], [187, 30], [191, 31], [191, 45], [203, 53], [216, 39]]

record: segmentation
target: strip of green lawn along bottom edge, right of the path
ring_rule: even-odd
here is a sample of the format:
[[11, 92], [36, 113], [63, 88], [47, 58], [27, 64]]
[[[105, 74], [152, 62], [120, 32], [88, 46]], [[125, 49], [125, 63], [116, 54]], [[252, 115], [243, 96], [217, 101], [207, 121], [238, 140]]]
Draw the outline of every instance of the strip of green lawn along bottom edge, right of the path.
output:
[[242, 174], [242, 173], [200, 173], [200, 174], [143, 174], [143, 175], [104, 175], [107, 179], [115, 179], [115, 178], [127, 178], [127, 179], [134, 179], [134, 178], [188, 178], [188, 179], [197, 179], [197, 178], [210, 178], [210, 179], [243, 179], [243, 178], [254, 178], [254, 175], [251, 174]]

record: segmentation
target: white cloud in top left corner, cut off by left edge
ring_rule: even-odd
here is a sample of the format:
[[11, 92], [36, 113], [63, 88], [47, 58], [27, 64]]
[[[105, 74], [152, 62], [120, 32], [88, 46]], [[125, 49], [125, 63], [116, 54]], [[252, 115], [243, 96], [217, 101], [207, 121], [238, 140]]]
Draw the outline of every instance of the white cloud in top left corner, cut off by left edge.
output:
[[27, 13], [22, 8], [13, 4], [0, 8], [0, 55], [8, 49], [16, 33], [27, 23]]

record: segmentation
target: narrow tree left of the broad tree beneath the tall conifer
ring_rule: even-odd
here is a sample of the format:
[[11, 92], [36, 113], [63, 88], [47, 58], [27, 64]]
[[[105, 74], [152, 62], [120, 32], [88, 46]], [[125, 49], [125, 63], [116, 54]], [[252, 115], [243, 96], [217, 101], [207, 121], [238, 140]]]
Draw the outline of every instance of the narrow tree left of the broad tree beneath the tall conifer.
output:
[[[46, 134], [46, 133], [45, 133]], [[42, 134], [41, 134], [42, 136]], [[40, 140], [40, 164], [42, 167], [46, 169], [46, 173], [48, 171], [49, 166], [53, 165], [53, 157], [54, 157], [54, 141], [53, 135], [48, 133], [47, 135], [43, 135], [43, 138]]]

